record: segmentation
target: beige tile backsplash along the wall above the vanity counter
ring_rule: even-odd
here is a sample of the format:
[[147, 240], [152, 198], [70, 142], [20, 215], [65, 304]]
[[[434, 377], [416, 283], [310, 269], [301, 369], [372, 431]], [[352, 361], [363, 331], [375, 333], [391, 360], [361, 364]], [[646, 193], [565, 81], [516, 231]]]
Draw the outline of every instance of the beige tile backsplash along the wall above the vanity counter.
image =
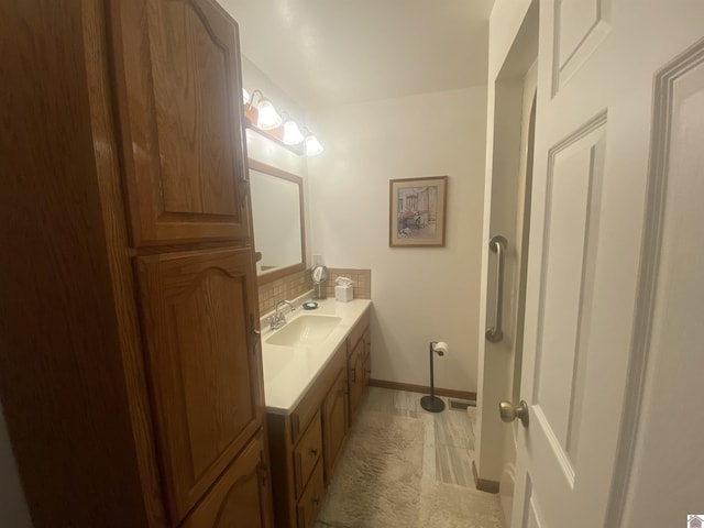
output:
[[[355, 299], [372, 298], [372, 271], [352, 270], [342, 267], [328, 268], [328, 282], [326, 295], [334, 299], [334, 279], [348, 277], [352, 279], [352, 288]], [[260, 314], [264, 315], [276, 308], [276, 302], [283, 299], [294, 299], [312, 289], [310, 271], [292, 273], [285, 277], [260, 286]]]

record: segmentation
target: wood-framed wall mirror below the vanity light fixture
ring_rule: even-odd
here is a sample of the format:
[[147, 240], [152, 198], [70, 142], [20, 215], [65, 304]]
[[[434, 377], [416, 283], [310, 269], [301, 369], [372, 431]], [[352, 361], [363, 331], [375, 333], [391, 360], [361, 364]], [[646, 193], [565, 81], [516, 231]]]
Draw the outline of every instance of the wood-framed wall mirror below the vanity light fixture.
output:
[[258, 284], [304, 270], [304, 180], [250, 160], [250, 193]]

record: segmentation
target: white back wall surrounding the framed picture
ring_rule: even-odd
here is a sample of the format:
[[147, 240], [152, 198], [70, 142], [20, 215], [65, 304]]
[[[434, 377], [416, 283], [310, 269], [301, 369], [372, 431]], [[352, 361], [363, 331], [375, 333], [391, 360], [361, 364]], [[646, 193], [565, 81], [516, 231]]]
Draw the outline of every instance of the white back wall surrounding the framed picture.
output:
[[[312, 253], [372, 270], [372, 377], [476, 389], [486, 87], [311, 112]], [[389, 248], [389, 179], [449, 176], [446, 248]]]

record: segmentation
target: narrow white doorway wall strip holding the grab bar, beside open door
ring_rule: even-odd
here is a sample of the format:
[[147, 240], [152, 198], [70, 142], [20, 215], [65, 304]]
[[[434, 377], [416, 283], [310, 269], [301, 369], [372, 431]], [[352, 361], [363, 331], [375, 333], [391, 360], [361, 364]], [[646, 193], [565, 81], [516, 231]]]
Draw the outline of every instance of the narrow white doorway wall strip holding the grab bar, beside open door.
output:
[[[496, 408], [510, 396], [516, 372], [519, 334], [516, 324], [519, 264], [522, 266], [521, 198], [525, 191], [524, 79], [538, 56], [538, 9], [528, 0], [499, 2], [490, 22], [490, 85], [487, 91], [487, 160], [484, 196], [485, 242], [482, 255], [480, 299], [481, 340], [477, 343], [476, 459], [473, 470], [480, 490], [495, 490], [513, 496], [513, 462], [516, 458], [514, 433], [502, 424]], [[537, 69], [537, 68], [536, 68]], [[537, 77], [537, 75], [536, 75]], [[532, 166], [532, 164], [531, 164]], [[497, 254], [490, 251], [490, 239], [507, 239], [505, 251], [503, 339], [485, 339], [485, 330], [495, 326]], [[525, 289], [521, 290], [521, 294]], [[518, 362], [519, 363], [519, 362]], [[519, 369], [518, 369], [519, 371]], [[507, 503], [508, 501], [504, 501]], [[506, 507], [507, 504], [504, 504]]]

